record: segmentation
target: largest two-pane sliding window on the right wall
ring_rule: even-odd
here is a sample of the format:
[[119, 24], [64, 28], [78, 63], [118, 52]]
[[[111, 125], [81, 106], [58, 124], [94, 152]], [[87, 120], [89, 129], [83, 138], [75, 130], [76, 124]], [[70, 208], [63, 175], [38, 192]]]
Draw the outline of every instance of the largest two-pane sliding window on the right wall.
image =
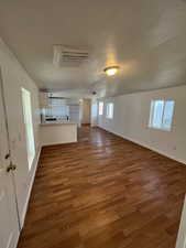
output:
[[152, 100], [149, 127], [169, 131], [174, 105], [174, 100]]

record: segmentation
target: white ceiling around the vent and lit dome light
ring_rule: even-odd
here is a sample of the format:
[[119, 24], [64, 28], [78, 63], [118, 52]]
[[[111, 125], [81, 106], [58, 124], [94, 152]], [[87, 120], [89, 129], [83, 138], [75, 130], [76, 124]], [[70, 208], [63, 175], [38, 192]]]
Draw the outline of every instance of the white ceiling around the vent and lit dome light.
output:
[[[186, 0], [1, 0], [0, 35], [40, 88], [98, 96], [186, 84]], [[53, 65], [53, 45], [88, 50]], [[107, 77], [106, 66], [119, 65]]]

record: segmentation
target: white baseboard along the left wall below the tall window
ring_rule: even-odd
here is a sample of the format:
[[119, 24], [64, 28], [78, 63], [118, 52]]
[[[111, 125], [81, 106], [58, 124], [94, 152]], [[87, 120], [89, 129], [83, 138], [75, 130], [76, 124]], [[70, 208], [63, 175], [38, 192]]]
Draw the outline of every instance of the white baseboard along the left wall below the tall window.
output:
[[30, 197], [31, 197], [32, 186], [33, 186], [36, 170], [37, 170], [37, 166], [39, 166], [39, 159], [40, 159], [41, 150], [42, 150], [42, 147], [39, 148], [39, 151], [37, 151], [37, 154], [36, 154], [36, 158], [35, 158], [34, 171], [33, 171], [33, 174], [32, 174], [32, 177], [31, 177], [31, 181], [30, 181], [28, 196], [26, 196], [23, 213], [22, 213], [22, 216], [21, 216], [21, 219], [20, 219], [21, 229], [24, 226], [24, 220], [25, 220], [25, 215], [26, 215], [26, 212], [28, 212], [29, 201], [30, 201]]

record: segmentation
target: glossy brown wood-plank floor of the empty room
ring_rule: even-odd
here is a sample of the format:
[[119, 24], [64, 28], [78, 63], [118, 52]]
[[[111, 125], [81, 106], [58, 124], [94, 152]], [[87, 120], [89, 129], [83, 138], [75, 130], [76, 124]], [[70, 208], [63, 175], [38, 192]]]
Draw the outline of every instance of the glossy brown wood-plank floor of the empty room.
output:
[[174, 248], [186, 166], [98, 128], [45, 147], [19, 248]]

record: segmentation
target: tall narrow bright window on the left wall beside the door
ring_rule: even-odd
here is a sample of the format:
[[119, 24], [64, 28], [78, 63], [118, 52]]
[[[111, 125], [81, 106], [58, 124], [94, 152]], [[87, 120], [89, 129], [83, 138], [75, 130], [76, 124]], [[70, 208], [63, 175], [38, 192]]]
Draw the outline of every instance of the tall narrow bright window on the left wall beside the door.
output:
[[34, 132], [32, 122], [32, 105], [31, 105], [31, 94], [29, 90], [21, 88], [22, 94], [22, 106], [23, 106], [23, 117], [25, 126], [25, 139], [26, 139], [26, 150], [28, 150], [28, 162], [29, 170], [31, 170], [32, 162], [35, 157], [35, 143], [34, 143]]

